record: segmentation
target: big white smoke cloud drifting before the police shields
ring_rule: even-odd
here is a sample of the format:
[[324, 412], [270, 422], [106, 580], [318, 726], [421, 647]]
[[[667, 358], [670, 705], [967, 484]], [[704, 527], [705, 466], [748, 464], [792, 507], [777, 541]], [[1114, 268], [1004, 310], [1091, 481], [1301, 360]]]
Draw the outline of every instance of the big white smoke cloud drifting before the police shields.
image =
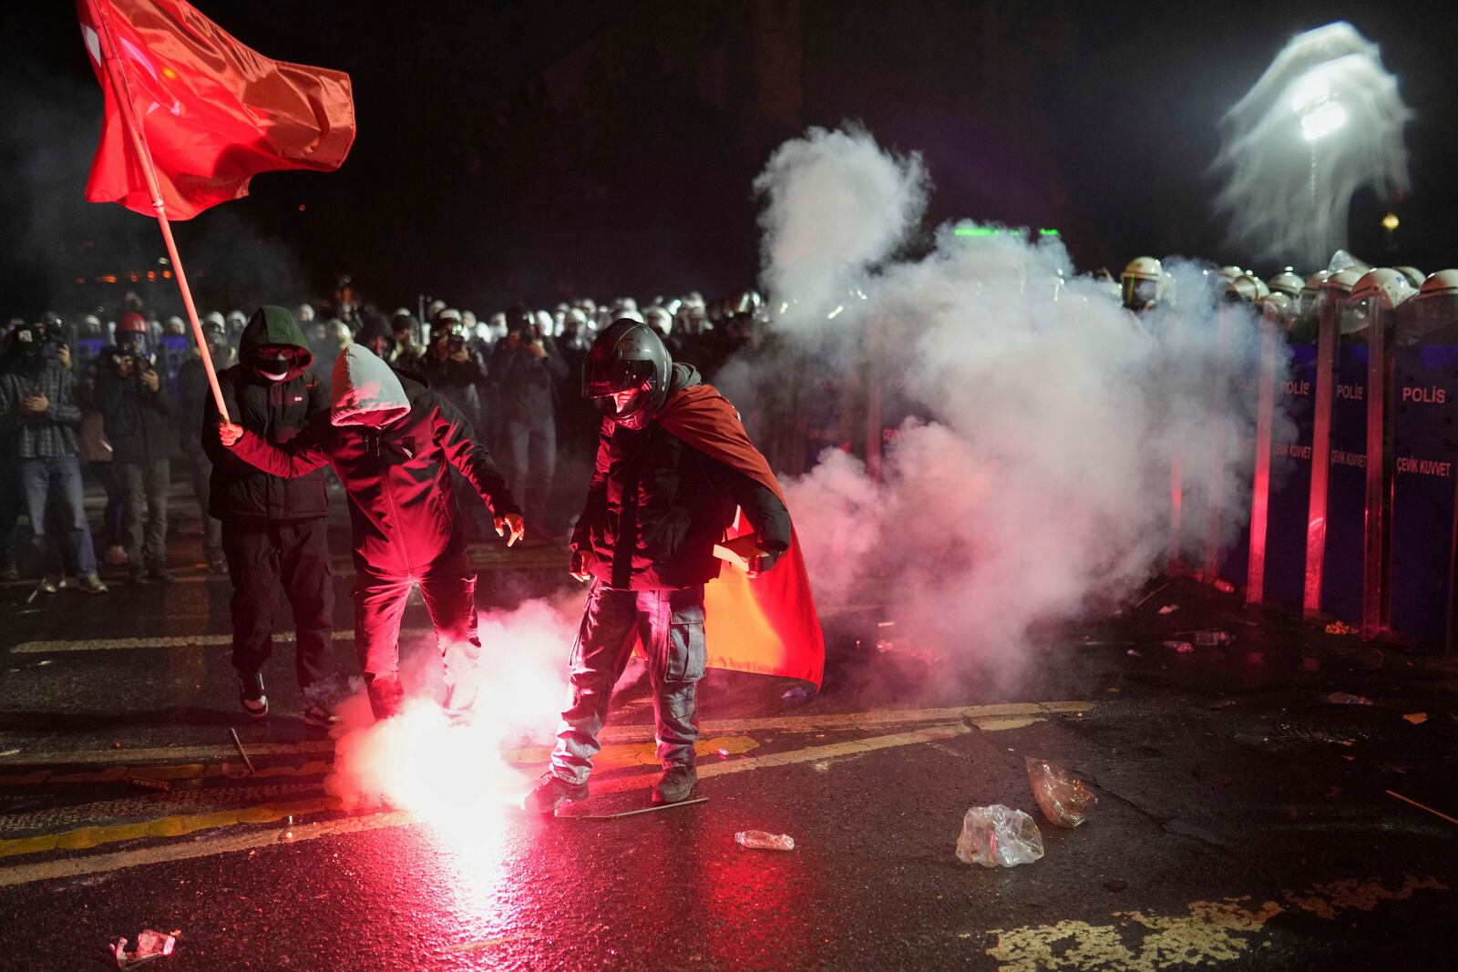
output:
[[[822, 605], [882, 603], [898, 640], [1012, 676], [1037, 625], [1117, 603], [1161, 567], [1175, 462], [1181, 551], [1198, 563], [1212, 525], [1233, 536], [1254, 395], [1220, 376], [1254, 373], [1254, 316], [1222, 309], [1219, 278], [1174, 261], [1178, 307], [1136, 321], [1075, 274], [1061, 242], [999, 227], [940, 227], [924, 258], [885, 264], [888, 240], [916, 230], [926, 176], [889, 157], [876, 168], [873, 150], [865, 134], [811, 131], [761, 176], [777, 185], [764, 224], [806, 227], [799, 245], [765, 245], [771, 305], [784, 281], [866, 296], [835, 318], [777, 315], [773, 326], [802, 348], [833, 335], [854, 345], [843, 377], [873, 363], [888, 409], [913, 415], [879, 479], [827, 452], [787, 484], [790, 512]], [[886, 226], [860, 224], [862, 242], [833, 259], [812, 252], [808, 227], [844, 222], [827, 207], [866, 171], [895, 175], [862, 214]], [[793, 357], [757, 361], [755, 380], [784, 367], [803, 382]]]

